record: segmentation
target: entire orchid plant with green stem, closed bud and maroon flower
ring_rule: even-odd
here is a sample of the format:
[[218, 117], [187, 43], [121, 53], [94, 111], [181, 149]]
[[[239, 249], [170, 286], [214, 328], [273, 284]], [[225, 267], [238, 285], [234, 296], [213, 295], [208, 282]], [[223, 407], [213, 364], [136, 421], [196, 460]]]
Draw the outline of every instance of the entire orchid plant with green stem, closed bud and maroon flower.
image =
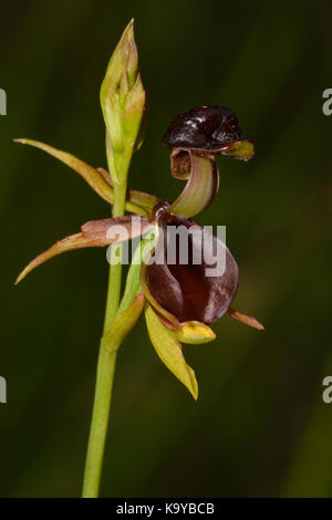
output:
[[[62, 252], [91, 247], [113, 248], [115, 243], [143, 237], [133, 256], [122, 299], [121, 246], [118, 261], [114, 264], [111, 261], [84, 497], [96, 497], [98, 492], [116, 351], [143, 309], [156, 353], [195, 399], [198, 384], [194, 370], [185, 361], [183, 344], [215, 340], [210, 325], [225, 313], [249, 326], [263, 329], [255, 318], [231, 308], [239, 281], [238, 266], [231, 252], [219, 237], [206, 233], [191, 220], [214, 201], [218, 193], [216, 155], [242, 160], [253, 156], [253, 145], [241, 139], [234, 112], [220, 106], [196, 107], [170, 124], [163, 139], [172, 149], [170, 173], [187, 183], [179, 197], [169, 204], [160, 197], [127, 189], [132, 154], [142, 145], [145, 119], [145, 91], [137, 72], [133, 21], [110, 60], [101, 87], [101, 105], [106, 127], [108, 171], [41, 142], [15, 139], [68, 165], [113, 206], [112, 218], [89, 221], [77, 233], [54, 243], [25, 267], [15, 283]], [[133, 215], [125, 215], [125, 211]], [[183, 231], [187, 246], [185, 261], [181, 258]], [[175, 242], [172, 242], [172, 236]], [[179, 248], [174, 248], [174, 243]], [[113, 252], [114, 249], [111, 260]]]

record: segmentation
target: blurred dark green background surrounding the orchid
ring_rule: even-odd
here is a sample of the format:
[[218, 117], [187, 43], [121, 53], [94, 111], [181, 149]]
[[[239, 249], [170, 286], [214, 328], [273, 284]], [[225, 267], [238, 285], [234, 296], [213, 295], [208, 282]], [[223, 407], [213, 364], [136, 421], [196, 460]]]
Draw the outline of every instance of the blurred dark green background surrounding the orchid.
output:
[[31, 137], [105, 166], [98, 89], [135, 17], [149, 122], [131, 185], [172, 200], [160, 137], [179, 112], [236, 111], [256, 143], [248, 165], [218, 159], [220, 191], [200, 218], [226, 225], [240, 267], [218, 340], [186, 346], [196, 404], [162, 365], [145, 324], [120, 352], [103, 496], [332, 495], [331, 135], [332, 10], [317, 1], [1, 1], [0, 495], [79, 496], [91, 418], [107, 264], [72, 252], [14, 288], [37, 253], [110, 208]]

